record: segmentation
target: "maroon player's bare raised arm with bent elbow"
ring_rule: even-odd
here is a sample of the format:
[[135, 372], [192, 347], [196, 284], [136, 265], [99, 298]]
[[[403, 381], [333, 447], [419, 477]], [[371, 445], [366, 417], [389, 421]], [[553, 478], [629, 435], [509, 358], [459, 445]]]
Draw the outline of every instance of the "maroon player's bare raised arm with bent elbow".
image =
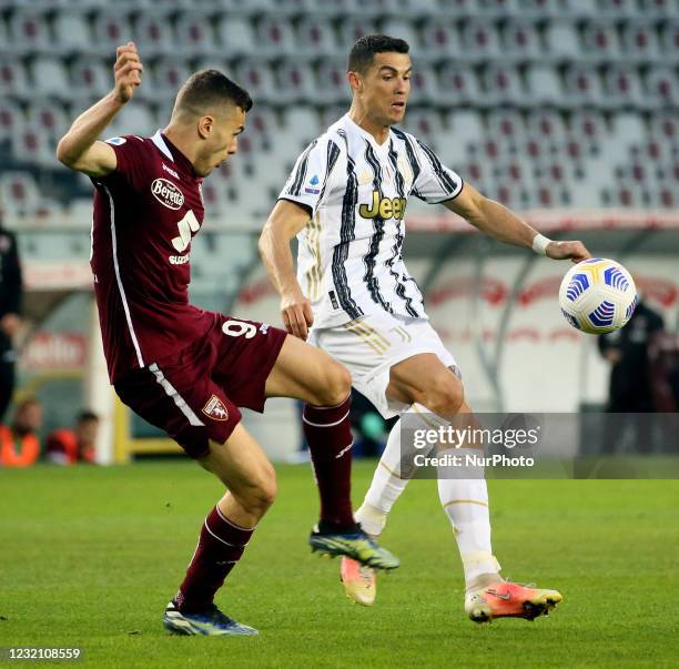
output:
[[142, 70], [134, 42], [118, 48], [113, 65], [113, 90], [80, 114], [61, 138], [57, 146], [57, 159], [60, 162], [89, 176], [104, 176], [115, 170], [115, 152], [97, 138], [132, 99], [134, 89], [141, 83]]

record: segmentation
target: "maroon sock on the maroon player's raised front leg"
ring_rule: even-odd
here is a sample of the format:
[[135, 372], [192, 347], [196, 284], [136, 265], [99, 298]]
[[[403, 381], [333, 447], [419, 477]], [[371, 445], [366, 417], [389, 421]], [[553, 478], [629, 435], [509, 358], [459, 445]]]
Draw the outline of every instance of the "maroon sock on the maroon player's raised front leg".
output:
[[352, 430], [347, 397], [337, 406], [306, 404], [302, 416], [316, 484], [321, 495], [323, 531], [351, 530]]

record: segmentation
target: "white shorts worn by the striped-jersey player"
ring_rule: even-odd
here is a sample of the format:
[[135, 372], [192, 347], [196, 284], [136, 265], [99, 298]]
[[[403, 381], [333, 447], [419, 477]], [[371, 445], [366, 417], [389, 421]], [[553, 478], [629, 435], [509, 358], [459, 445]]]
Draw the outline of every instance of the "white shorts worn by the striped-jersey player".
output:
[[[446, 367], [455, 358], [425, 318], [405, 318], [387, 312], [362, 316], [336, 327], [312, 328], [308, 343], [330, 353], [352, 373], [354, 387], [385, 417], [397, 416], [407, 404], [388, 399], [389, 369], [397, 363], [433, 353]], [[459, 371], [456, 369], [459, 375]]]

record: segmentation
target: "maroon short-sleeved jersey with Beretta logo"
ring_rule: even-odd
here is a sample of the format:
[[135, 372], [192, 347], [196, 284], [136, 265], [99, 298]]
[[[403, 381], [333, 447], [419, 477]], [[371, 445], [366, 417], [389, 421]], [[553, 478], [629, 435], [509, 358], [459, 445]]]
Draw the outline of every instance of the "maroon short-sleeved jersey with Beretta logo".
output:
[[216, 314], [189, 304], [202, 180], [159, 131], [108, 143], [118, 166], [93, 179], [91, 266], [111, 383], [186, 347]]

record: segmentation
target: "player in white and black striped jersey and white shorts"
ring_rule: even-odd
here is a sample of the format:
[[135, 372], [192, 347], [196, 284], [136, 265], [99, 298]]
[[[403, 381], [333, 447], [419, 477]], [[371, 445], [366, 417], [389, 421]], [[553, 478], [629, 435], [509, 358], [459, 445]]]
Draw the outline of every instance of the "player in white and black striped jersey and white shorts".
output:
[[[555, 260], [589, 257], [581, 242], [553, 242], [488, 200], [419, 140], [396, 128], [405, 113], [412, 62], [407, 42], [368, 36], [353, 47], [346, 115], [300, 155], [260, 239], [288, 332], [324, 348], [384, 417], [412, 414], [422, 428], [470, 413], [453, 355], [430, 326], [422, 293], [402, 259], [411, 195], [443, 204], [482, 232]], [[295, 274], [291, 253], [297, 235]], [[313, 326], [313, 327], [312, 327]], [[419, 423], [418, 423], [419, 422]], [[393, 427], [356, 520], [371, 535], [406, 487], [401, 420]], [[478, 453], [478, 452], [476, 452]], [[486, 482], [439, 476], [440, 503], [459, 548], [465, 610], [477, 622], [533, 619], [561, 600], [556, 590], [504, 580], [490, 545]], [[344, 558], [355, 601], [375, 599], [374, 570]]]

